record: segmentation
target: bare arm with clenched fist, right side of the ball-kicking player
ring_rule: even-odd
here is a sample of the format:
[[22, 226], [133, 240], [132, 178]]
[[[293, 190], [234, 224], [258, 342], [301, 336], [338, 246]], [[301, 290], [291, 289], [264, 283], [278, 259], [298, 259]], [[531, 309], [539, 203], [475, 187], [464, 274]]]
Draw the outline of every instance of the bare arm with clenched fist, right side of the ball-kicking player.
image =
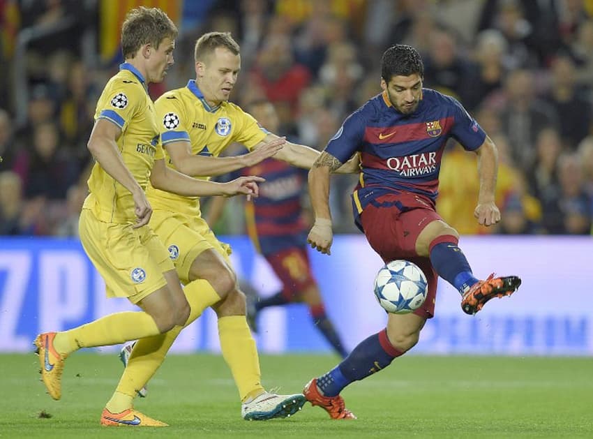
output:
[[498, 151], [496, 145], [486, 136], [481, 147], [476, 149], [480, 192], [474, 216], [481, 225], [494, 225], [500, 221], [500, 210], [495, 203], [496, 177], [498, 174]]

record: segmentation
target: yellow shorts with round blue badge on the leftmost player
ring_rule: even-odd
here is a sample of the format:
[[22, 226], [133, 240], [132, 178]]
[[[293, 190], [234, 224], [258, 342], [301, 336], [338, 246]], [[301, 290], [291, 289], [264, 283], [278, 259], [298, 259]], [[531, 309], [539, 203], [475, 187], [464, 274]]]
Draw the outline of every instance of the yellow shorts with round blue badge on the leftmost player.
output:
[[174, 269], [167, 249], [145, 225], [104, 223], [90, 209], [82, 209], [79, 221], [84, 251], [105, 280], [107, 297], [128, 297], [137, 304], [167, 285], [163, 272]]

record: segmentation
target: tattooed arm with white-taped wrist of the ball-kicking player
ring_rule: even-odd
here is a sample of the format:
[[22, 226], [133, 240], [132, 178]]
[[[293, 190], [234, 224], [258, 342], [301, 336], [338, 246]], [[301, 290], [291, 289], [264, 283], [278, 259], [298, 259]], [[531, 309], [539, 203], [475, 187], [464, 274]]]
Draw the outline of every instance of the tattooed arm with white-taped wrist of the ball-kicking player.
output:
[[331, 212], [329, 211], [329, 177], [342, 163], [331, 154], [323, 151], [309, 171], [309, 195], [315, 213], [315, 224], [307, 237], [308, 243], [324, 254], [331, 254], [333, 241]]

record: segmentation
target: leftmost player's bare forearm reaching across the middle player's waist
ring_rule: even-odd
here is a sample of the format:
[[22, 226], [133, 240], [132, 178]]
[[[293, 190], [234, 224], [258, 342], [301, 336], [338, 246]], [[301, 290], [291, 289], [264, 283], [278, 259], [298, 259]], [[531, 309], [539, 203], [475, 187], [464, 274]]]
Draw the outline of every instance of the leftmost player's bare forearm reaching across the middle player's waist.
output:
[[167, 168], [164, 160], [154, 162], [150, 175], [151, 184], [161, 191], [177, 193], [184, 197], [205, 197], [208, 195], [248, 195], [257, 197], [257, 182], [262, 177], [239, 177], [227, 183], [198, 180], [181, 172]]

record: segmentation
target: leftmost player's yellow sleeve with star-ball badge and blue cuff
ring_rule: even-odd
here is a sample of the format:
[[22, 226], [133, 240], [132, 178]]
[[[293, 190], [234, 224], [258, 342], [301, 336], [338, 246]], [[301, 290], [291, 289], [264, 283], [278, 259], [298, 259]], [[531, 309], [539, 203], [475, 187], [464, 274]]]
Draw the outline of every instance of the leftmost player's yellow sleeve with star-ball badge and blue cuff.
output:
[[105, 119], [126, 131], [130, 120], [140, 110], [146, 93], [137, 82], [116, 80], [107, 85], [97, 103], [96, 119]]

